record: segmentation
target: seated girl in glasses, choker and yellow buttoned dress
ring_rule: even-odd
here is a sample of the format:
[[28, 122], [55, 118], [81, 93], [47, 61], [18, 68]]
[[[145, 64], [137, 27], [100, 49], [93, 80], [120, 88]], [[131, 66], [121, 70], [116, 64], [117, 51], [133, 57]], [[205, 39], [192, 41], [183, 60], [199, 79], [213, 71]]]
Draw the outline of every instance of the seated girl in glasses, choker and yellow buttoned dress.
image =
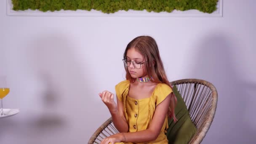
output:
[[167, 116], [176, 121], [177, 99], [155, 40], [149, 36], [136, 37], [128, 43], [123, 58], [126, 80], [115, 86], [117, 104], [113, 93], [99, 93], [120, 133], [103, 139], [101, 144], [168, 144]]

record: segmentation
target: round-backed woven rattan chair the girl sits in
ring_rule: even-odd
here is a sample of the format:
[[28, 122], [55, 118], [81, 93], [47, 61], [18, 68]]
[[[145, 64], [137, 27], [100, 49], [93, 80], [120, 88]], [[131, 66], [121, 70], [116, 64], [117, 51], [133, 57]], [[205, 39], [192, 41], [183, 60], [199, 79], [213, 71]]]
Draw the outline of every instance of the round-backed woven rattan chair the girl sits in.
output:
[[[215, 115], [218, 94], [213, 84], [198, 79], [184, 79], [170, 82], [176, 85], [184, 99], [189, 115], [197, 128], [197, 132], [189, 144], [200, 144], [209, 130]], [[88, 144], [100, 144], [102, 139], [118, 133], [112, 118], [104, 122], [88, 141]]]

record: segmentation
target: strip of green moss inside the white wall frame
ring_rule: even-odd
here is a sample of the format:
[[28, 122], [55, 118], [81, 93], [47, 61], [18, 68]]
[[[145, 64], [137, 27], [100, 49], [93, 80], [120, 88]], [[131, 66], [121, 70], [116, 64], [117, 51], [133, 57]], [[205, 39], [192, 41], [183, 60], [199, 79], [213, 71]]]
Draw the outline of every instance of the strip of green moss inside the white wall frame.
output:
[[87, 10], [115, 13], [119, 10], [147, 10], [148, 12], [172, 12], [174, 9], [187, 11], [197, 9], [204, 13], [216, 10], [218, 0], [12, 0], [13, 10], [40, 11]]

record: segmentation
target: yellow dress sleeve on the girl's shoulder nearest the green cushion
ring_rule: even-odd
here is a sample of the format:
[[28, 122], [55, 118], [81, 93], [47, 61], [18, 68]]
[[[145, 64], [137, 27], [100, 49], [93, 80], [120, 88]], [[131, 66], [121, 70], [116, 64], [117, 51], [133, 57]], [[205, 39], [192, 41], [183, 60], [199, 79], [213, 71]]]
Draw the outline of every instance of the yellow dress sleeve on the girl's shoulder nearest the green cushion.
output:
[[156, 99], [156, 106], [160, 104], [173, 90], [171, 87], [165, 83], [160, 83], [157, 85], [157, 89], [155, 90], [155, 99]]

